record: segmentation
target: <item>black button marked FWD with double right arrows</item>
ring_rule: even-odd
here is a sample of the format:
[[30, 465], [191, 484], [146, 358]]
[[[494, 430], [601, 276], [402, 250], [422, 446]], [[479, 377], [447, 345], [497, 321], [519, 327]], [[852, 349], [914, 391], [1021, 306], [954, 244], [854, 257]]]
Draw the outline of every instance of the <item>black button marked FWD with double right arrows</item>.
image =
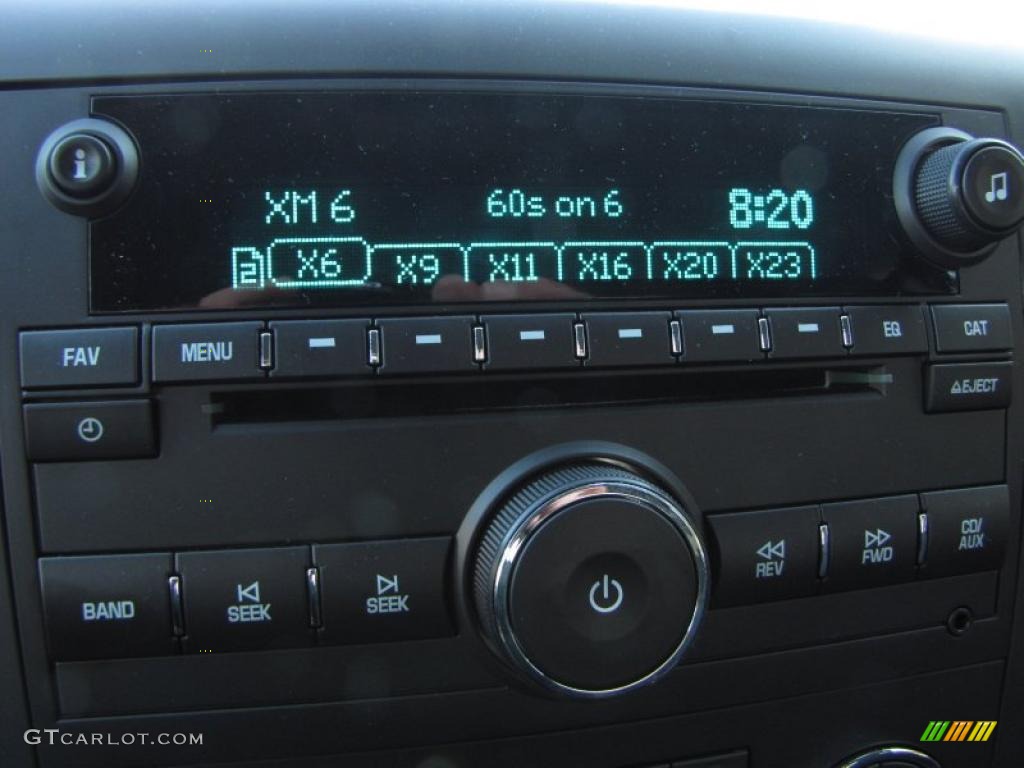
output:
[[822, 505], [831, 543], [825, 587], [849, 590], [912, 580], [918, 512], [915, 496]]

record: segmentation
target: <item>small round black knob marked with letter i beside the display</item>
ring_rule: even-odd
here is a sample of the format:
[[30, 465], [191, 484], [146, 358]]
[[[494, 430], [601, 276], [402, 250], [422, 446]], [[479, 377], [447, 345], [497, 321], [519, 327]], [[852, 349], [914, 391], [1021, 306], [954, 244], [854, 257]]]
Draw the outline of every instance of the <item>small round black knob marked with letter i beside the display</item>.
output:
[[131, 194], [138, 152], [124, 129], [105, 120], [76, 120], [53, 131], [36, 158], [36, 183], [61, 211], [98, 217]]

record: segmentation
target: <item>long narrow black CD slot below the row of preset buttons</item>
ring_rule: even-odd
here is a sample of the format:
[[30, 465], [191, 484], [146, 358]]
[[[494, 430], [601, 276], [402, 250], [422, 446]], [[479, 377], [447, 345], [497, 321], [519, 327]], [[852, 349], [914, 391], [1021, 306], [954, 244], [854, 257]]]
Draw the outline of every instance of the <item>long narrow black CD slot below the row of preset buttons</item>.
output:
[[394, 380], [211, 393], [214, 426], [390, 419], [490, 412], [664, 404], [835, 394], [882, 394], [884, 368], [801, 367], [706, 372], [502, 377], [481, 382]]

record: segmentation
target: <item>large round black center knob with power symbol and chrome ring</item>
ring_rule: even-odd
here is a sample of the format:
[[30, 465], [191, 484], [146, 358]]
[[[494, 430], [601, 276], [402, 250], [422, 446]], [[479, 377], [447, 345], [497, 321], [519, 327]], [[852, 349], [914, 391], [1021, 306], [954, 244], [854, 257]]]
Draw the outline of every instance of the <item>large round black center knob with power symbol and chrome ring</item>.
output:
[[596, 462], [513, 493], [483, 530], [473, 580], [492, 648], [549, 690], [586, 697], [671, 670], [709, 589], [707, 553], [682, 504]]

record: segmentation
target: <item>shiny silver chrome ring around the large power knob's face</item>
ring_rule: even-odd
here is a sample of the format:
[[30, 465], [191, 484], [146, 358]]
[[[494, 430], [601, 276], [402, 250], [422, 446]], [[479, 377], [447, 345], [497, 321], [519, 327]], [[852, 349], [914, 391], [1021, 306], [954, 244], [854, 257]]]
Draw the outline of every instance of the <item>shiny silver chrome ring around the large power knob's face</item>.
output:
[[[655, 669], [642, 678], [626, 685], [614, 688], [587, 689], [578, 688], [555, 680], [529, 659], [512, 628], [510, 591], [512, 577], [518, 565], [519, 556], [529, 539], [555, 515], [574, 504], [597, 498], [620, 499], [638, 504], [668, 519], [682, 537], [683, 542], [693, 557], [694, 569], [696, 570], [697, 594], [693, 613], [690, 616], [682, 639], [672, 653]], [[503, 650], [515, 666], [544, 688], [575, 698], [607, 698], [649, 685], [675, 669], [680, 658], [682, 658], [692, 643], [696, 630], [703, 620], [703, 614], [708, 609], [710, 585], [711, 577], [708, 552], [705, 549], [700, 535], [682, 505], [668, 495], [662, 494], [647, 486], [645, 483], [640, 484], [640, 481], [634, 483], [624, 479], [608, 481], [586, 480], [574, 487], [560, 488], [557, 493], [535, 502], [505, 536], [501, 546], [501, 554], [495, 562], [492, 581], [492, 600], [495, 608], [495, 625], [498, 631], [498, 640]]]

